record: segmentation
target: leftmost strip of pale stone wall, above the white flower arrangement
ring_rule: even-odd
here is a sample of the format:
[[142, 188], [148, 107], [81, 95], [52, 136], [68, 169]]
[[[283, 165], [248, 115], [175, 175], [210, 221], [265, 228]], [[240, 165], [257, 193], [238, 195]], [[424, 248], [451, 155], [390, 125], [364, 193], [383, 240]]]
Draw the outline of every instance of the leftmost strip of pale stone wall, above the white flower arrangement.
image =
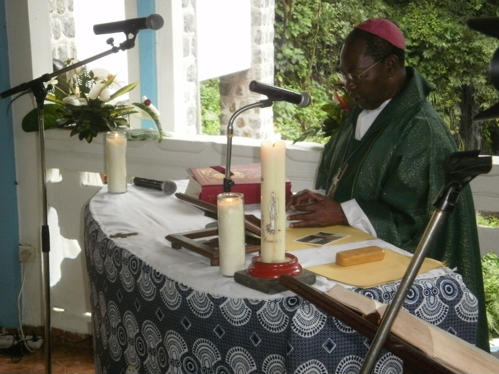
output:
[[52, 58], [65, 61], [76, 56], [73, 0], [49, 0]]

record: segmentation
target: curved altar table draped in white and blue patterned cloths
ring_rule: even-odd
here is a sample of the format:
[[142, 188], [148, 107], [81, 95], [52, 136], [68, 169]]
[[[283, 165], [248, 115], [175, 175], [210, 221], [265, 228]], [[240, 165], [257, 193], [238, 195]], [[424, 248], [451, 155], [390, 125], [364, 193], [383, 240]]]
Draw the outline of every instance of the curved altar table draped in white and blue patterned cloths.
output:
[[[178, 190], [187, 181], [178, 181]], [[250, 206], [248, 207], [250, 208]], [[214, 222], [162, 191], [103, 187], [85, 208], [96, 373], [356, 373], [369, 341], [291, 291], [267, 295], [218, 274], [208, 258], [173, 249], [168, 234]], [[292, 252], [303, 267], [331, 262], [338, 250], [379, 239]], [[247, 255], [247, 264], [253, 254]], [[335, 282], [317, 276], [326, 291]], [[387, 303], [398, 282], [356, 289]], [[404, 308], [475, 342], [477, 300], [461, 277], [439, 268], [419, 275]], [[375, 373], [402, 373], [382, 351]]]

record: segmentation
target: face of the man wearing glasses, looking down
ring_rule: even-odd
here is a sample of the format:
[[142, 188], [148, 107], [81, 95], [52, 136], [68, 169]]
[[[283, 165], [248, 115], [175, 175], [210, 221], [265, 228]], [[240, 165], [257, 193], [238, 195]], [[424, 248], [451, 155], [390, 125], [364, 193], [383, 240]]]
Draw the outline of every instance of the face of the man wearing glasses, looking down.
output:
[[[345, 88], [354, 103], [362, 109], [376, 109], [390, 95], [388, 76], [384, 69], [385, 60], [375, 61], [365, 56], [365, 42], [353, 40], [343, 45], [340, 53], [340, 69], [343, 74], [353, 74], [358, 79], [348, 79]], [[359, 76], [360, 75], [360, 76]]]

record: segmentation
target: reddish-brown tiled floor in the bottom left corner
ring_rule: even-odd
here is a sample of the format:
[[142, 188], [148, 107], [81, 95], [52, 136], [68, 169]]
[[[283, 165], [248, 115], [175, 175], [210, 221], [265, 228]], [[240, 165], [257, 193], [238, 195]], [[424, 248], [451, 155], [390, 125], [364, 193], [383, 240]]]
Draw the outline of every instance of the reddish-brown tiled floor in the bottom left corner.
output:
[[[72, 347], [52, 344], [51, 350], [52, 374], [95, 374], [93, 351], [88, 347]], [[0, 354], [0, 373], [3, 374], [43, 374], [45, 373], [45, 358], [43, 348], [34, 353], [19, 357]]]

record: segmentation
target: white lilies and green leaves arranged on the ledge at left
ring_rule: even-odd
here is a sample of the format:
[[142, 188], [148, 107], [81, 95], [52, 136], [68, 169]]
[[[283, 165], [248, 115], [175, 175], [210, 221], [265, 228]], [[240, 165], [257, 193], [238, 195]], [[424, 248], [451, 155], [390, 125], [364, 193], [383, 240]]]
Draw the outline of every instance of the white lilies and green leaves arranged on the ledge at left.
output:
[[[69, 66], [75, 62], [76, 60], [70, 59], [65, 62], [65, 65]], [[142, 103], [132, 104], [116, 100], [119, 96], [133, 90], [137, 84], [131, 83], [121, 87], [116, 80], [116, 75], [109, 74], [104, 69], [88, 70], [85, 65], [65, 75], [60, 75], [47, 83], [46, 100], [53, 104], [44, 105], [44, 129], [69, 129], [71, 136], [77, 134], [80, 140], [85, 139], [88, 143], [91, 143], [99, 132], [114, 130], [127, 132], [129, 139], [154, 138], [161, 141], [163, 132], [159, 113], [151, 100], [144, 97]], [[111, 93], [112, 89], [113, 93]], [[126, 117], [132, 114], [153, 120], [157, 130], [130, 129]], [[22, 129], [26, 132], [38, 130], [36, 108], [24, 116]]]

